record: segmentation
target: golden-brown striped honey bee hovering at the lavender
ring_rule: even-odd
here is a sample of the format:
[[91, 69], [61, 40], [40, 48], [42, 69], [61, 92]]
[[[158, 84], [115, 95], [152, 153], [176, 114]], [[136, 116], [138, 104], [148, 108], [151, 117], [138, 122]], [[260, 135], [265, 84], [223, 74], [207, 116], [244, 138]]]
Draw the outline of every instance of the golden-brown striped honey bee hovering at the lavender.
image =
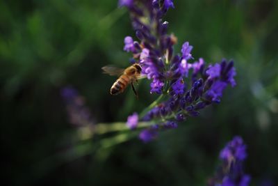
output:
[[119, 93], [124, 92], [126, 86], [131, 84], [132, 90], [136, 95], [136, 97], [138, 98], [138, 93], [133, 85], [134, 82], [138, 83], [138, 79], [142, 78], [141, 75], [142, 68], [138, 63], [135, 63], [126, 69], [116, 68], [113, 66], [104, 66], [101, 69], [104, 70], [105, 74], [119, 76], [119, 78], [111, 86], [110, 89], [111, 95], [117, 95]]

